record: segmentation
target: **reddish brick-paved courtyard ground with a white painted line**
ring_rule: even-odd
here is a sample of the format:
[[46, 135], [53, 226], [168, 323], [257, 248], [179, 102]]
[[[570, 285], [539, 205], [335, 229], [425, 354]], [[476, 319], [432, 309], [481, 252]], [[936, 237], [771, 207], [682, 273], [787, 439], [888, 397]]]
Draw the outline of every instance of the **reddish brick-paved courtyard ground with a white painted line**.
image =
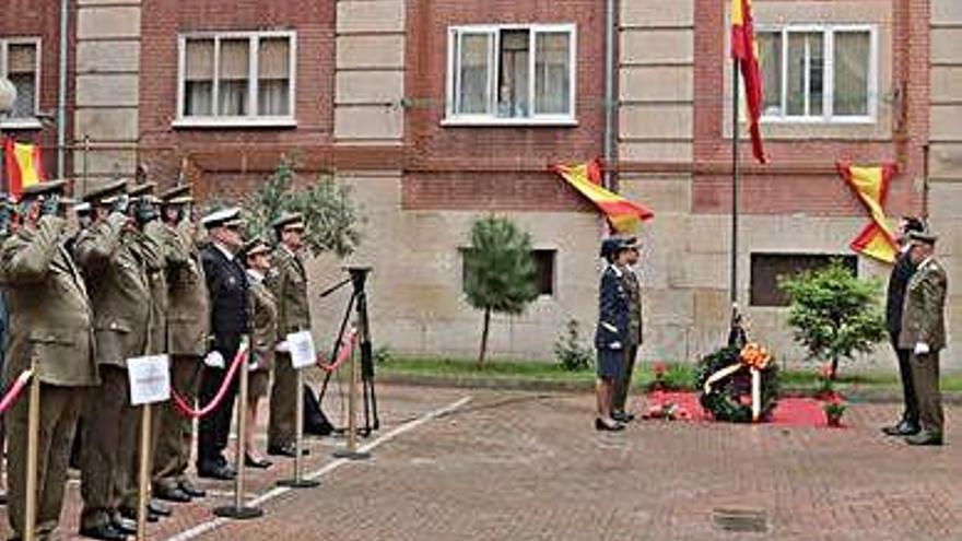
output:
[[[955, 407], [949, 445], [912, 448], [878, 430], [891, 404], [854, 404], [844, 430], [638, 422], [599, 434], [588, 395], [395, 387], [379, 398], [371, 460], [335, 461], [340, 440], [312, 439], [305, 471], [319, 487], [273, 490], [262, 518], [212, 522], [231, 485], [209, 483], [218, 497], [177, 507], [149, 539], [962, 540]], [[248, 471], [254, 496], [290, 464]], [[75, 485], [69, 498], [61, 531], [74, 539]], [[720, 510], [761, 517], [732, 520], [764, 531], [726, 531]]]

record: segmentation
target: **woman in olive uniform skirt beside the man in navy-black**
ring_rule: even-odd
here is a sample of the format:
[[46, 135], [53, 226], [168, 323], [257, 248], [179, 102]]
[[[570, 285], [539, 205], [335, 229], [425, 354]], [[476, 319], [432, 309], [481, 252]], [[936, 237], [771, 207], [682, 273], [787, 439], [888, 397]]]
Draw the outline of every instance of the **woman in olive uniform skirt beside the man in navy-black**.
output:
[[257, 404], [267, 396], [270, 369], [274, 360], [278, 338], [278, 305], [274, 295], [263, 280], [270, 271], [270, 247], [261, 238], [244, 245], [247, 261], [247, 279], [250, 283], [251, 372], [247, 395], [247, 433], [244, 435], [244, 464], [251, 468], [269, 468], [271, 461], [263, 458], [254, 443], [257, 431]]

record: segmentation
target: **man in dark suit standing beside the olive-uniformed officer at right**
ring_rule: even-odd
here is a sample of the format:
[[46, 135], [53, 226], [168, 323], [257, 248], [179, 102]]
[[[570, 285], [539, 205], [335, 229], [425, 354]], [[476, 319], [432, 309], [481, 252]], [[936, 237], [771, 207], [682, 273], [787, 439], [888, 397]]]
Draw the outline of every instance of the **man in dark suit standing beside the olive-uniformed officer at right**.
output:
[[899, 345], [899, 333], [902, 332], [902, 304], [905, 299], [905, 286], [915, 273], [915, 262], [912, 261], [910, 250], [912, 243], [908, 242], [910, 232], [920, 232], [924, 227], [917, 217], [903, 217], [899, 221], [895, 231], [895, 242], [899, 243], [899, 256], [889, 275], [889, 292], [885, 299], [885, 328], [892, 341], [892, 349], [899, 358], [899, 375], [902, 377], [902, 395], [905, 402], [902, 410], [902, 419], [892, 426], [885, 426], [882, 432], [890, 436], [911, 436], [918, 433], [918, 408], [915, 403], [915, 388], [912, 385], [912, 365], [910, 364], [911, 349]]

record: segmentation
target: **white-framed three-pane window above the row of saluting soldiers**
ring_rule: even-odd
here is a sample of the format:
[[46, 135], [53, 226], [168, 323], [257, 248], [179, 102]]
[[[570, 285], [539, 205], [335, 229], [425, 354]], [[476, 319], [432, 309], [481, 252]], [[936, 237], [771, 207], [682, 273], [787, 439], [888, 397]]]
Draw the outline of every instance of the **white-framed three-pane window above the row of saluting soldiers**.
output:
[[176, 126], [293, 126], [294, 32], [179, 36]]

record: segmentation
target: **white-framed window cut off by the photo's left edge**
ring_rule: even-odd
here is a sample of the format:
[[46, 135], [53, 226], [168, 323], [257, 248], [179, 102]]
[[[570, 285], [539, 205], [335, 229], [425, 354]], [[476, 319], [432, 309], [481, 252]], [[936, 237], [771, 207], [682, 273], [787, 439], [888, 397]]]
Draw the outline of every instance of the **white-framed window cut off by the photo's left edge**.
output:
[[13, 110], [3, 120], [3, 127], [39, 127], [36, 115], [40, 107], [40, 39], [0, 39], [0, 77], [5, 77], [16, 87]]

